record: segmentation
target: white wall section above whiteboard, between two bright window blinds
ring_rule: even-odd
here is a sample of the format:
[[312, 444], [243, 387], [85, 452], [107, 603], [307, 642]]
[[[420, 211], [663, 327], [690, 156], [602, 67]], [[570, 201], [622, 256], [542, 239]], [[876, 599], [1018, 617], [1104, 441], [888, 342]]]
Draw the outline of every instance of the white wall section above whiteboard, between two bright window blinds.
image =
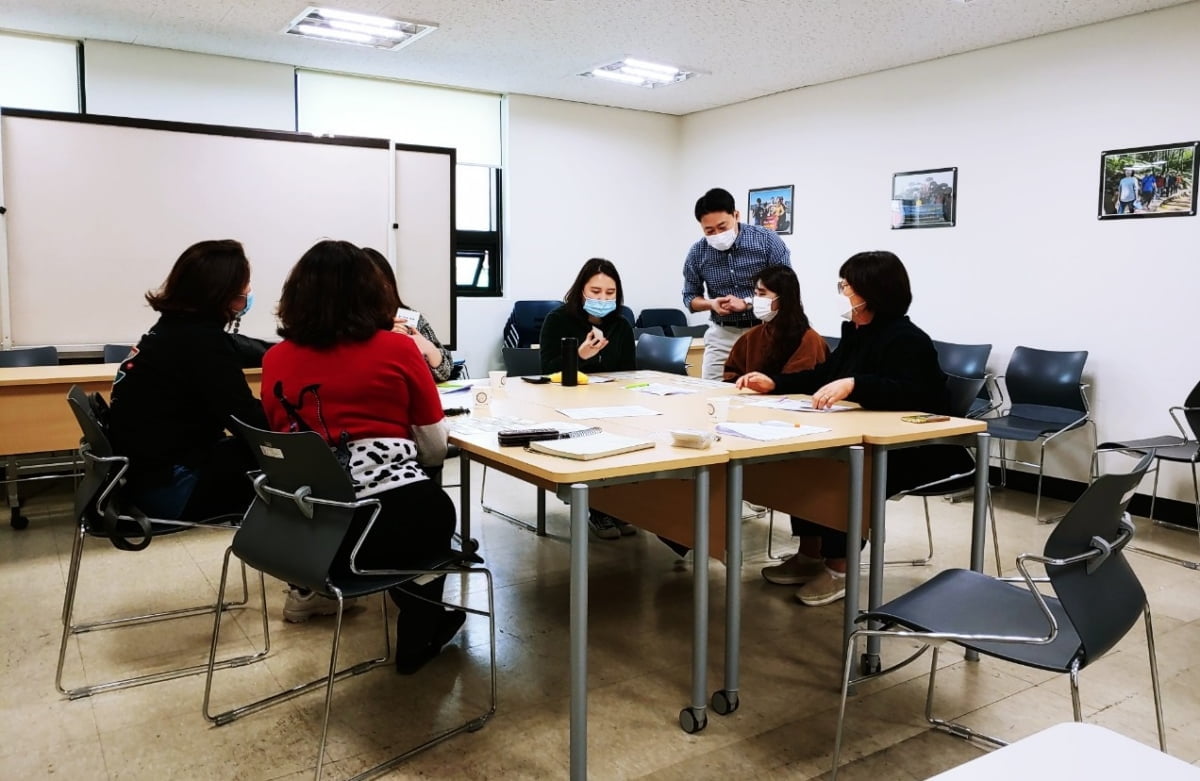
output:
[[295, 130], [294, 68], [228, 56], [88, 41], [88, 112]]

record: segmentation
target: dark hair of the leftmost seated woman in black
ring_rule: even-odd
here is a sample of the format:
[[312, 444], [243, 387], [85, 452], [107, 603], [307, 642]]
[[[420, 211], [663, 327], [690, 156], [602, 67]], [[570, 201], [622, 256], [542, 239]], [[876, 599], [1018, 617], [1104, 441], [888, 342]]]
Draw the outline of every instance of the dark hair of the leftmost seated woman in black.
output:
[[146, 293], [155, 312], [190, 312], [230, 323], [230, 307], [250, 284], [250, 260], [233, 239], [199, 241], [175, 260], [167, 281]]

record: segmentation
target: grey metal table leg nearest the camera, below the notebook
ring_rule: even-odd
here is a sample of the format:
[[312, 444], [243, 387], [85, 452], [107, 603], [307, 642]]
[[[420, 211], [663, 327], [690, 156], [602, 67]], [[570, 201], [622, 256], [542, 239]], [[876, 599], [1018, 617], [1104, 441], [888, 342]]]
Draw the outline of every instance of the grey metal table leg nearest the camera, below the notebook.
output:
[[588, 777], [588, 487], [571, 485], [571, 781]]

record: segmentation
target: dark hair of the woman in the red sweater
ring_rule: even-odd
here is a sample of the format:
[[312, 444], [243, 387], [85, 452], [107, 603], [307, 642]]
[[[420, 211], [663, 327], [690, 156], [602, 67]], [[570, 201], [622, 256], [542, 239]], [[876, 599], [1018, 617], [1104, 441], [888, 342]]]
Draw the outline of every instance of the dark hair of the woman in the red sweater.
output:
[[316, 348], [365, 342], [391, 329], [394, 298], [365, 252], [349, 241], [318, 241], [283, 283], [278, 334]]

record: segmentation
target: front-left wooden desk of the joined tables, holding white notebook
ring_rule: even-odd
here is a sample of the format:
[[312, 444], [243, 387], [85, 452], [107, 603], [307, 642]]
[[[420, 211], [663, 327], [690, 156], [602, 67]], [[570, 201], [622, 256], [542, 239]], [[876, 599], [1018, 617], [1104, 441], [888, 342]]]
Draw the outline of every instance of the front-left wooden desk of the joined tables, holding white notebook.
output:
[[[522, 388], [523, 386], [523, 388]], [[490, 411], [496, 416], [516, 416], [535, 421], [562, 419], [554, 411], [565, 405], [595, 405], [602, 385], [560, 388], [508, 383], [503, 397], [493, 398]], [[590, 391], [590, 392], [589, 392]], [[628, 391], [626, 391], [628, 392]], [[625, 403], [631, 403], [626, 401]], [[613, 433], [641, 434], [641, 429], [623, 426], [619, 420], [604, 421]], [[554, 491], [571, 505], [571, 589], [570, 589], [570, 768], [571, 779], [587, 779], [587, 626], [588, 626], [588, 507], [589, 488], [647, 480], [684, 477], [691, 481], [695, 507], [696, 560], [708, 558], [709, 469], [727, 461], [720, 447], [685, 450], [658, 443], [650, 450], [610, 456], [596, 461], [571, 461], [523, 447], [500, 447], [494, 433], [451, 433], [450, 441], [462, 451], [460, 515], [464, 546], [470, 537], [470, 461], [479, 461], [518, 479]], [[692, 572], [692, 685], [691, 704], [680, 713], [680, 721], [702, 722], [708, 701], [708, 569]], [[702, 727], [702, 723], [700, 725]], [[690, 731], [690, 732], [694, 732]]]

